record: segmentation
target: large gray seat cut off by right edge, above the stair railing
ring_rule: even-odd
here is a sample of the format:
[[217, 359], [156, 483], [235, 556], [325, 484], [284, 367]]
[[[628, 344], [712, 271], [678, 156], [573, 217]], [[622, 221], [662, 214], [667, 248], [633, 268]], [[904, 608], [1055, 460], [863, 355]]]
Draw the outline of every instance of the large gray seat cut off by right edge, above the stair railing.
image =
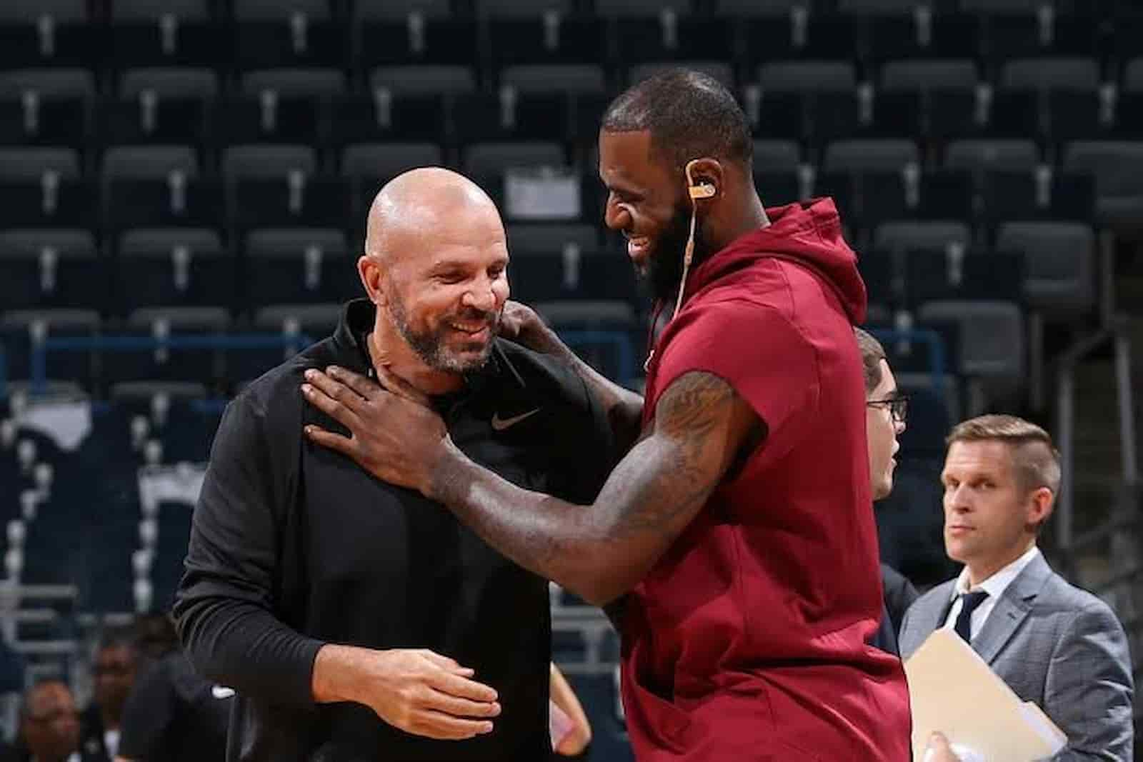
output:
[[1095, 176], [1096, 214], [1113, 226], [1143, 219], [1143, 142], [1077, 141], [1064, 151], [1064, 169]]

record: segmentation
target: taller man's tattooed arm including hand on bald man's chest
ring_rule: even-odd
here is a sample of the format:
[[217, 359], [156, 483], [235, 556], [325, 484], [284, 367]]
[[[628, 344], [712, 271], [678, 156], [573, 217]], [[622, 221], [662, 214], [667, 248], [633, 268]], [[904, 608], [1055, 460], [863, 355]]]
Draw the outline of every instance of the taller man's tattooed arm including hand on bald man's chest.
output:
[[531, 492], [470, 460], [427, 399], [385, 366], [374, 382], [331, 367], [302, 391], [344, 426], [306, 426], [383, 481], [442, 503], [485, 542], [530, 571], [602, 605], [631, 589], [682, 532], [765, 426], [721, 378], [701, 371], [663, 392], [655, 419], [590, 508]]

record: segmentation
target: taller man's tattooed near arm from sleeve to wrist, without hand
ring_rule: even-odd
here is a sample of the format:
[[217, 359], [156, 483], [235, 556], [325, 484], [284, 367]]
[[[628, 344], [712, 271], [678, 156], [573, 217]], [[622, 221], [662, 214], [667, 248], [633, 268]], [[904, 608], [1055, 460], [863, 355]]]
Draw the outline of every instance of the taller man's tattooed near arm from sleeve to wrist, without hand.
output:
[[722, 379], [692, 371], [663, 393], [594, 505], [520, 489], [449, 444], [429, 497], [520, 566], [602, 605], [631, 589], [758, 442], [761, 422]]

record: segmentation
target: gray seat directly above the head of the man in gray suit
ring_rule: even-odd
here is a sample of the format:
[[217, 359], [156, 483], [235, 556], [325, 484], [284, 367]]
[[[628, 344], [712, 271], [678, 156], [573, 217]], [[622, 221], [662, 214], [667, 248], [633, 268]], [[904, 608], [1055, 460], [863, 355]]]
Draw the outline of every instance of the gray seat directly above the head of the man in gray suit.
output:
[[1024, 375], [1024, 316], [1015, 302], [927, 302], [921, 321], [960, 327], [960, 369], [969, 376], [1021, 378]]

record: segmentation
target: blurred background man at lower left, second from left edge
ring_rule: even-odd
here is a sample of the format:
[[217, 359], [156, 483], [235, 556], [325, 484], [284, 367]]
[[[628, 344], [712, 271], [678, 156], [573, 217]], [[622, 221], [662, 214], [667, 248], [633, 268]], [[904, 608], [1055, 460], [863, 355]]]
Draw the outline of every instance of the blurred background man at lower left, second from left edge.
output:
[[114, 759], [119, 751], [123, 706], [135, 684], [137, 666], [133, 632], [117, 629], [99, 641], [91, 664], [95, 695], [80, 717], [80, 744], [86, 754]]

